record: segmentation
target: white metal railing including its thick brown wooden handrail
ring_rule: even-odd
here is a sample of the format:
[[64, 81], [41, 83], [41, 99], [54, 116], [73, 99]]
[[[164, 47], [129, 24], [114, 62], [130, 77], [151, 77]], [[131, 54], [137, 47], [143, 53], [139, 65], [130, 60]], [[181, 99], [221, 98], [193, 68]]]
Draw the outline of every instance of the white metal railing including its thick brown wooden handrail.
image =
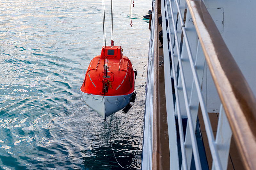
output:
[[[196, 169], [202, 169], [195, 135], [199, 107], [212, 155], [212, 170], [227, 169], [232, 131], [244, 167], [256, 168], [256, 100], [203, 1], [161, 0], [161, 11], [170, 169], [189, 170], [192, 154]], [[223, 105], [220, 106], [216, 138], [201, 89], [205, 60]], [[175, 102], [172, 88], [175, 89]], [[175, 116], [179, 124], [181, 167], [177, 156]], [[183, 117], [188, 118], [185, 138]]]

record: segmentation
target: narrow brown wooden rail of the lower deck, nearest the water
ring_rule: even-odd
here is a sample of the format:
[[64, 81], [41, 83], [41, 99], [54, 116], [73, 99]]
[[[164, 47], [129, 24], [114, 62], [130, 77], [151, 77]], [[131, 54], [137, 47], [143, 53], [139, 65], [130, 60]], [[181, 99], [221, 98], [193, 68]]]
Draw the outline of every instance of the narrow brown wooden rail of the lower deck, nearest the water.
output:
[[[155, 0], [155, 36], [154, 36], [154, 84], [153, 84], [153, 147], [152, 169], [160, 170], [160, 102], [159, 102], [159, 45], [158, 45], [158, 0]], [[152, 18], [153, 19], [153, 18]]]

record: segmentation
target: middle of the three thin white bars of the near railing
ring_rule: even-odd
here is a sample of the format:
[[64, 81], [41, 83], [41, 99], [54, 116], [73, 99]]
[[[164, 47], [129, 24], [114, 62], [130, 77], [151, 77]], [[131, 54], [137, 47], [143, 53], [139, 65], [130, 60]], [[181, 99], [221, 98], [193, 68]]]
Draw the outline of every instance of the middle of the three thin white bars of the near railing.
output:
[[[173, 26], [173, 30], [174, 30], [177, 55], [178, 55], [178, 63], [179, 63], [179, 66], [180, 66], [181, 83], [182, 83], [182, 87], [184, 88], [183, 89], [183, 95], [184, 95], [184, 99], [185, 99], [185, 107], [186, 107], [187, 116], [188, 116], [189, 131], [190, 131], [190, 135], [191, 135], [193, 154], [194, 154], [194, 157], [195, 157], [194, 160], [195, 160], [196, 169], [200, 170], [200, 169], [202, 169], [202, 167], [201, 167], [198, 147], [197, 147], [197, 143], [196, 143], [196, 135], [195, 135], [194, 127], [193, 127], [192, 116], [191, 116], [190, 108], [188, 106], [188, 103], [189, 103], [188, 102], [188, 94], [187, 94], [187, 90], [186, 90], [187, 88], [186, 88], [186, 84], [185, 84], [185, 80], [184, 80], [185, 78], [184, 78], [184, 74], [183, 74], [183, 67], [182, 67], [181, 57], [180, 57], [179, 40], [178, 40], [176, 24], [175, 24], [175, 21], [174, 21], [174, 16], [173, 16], [173, 10], [172, 10], [172, 4], [171, 3], [170, 3], [170, 9], [171, 9], [171, 15], [172, 15], [172, 26]], [[173, 74], [175, 74], [175, 72]], [[178, 92], [178, 91], [176, 91], [176, 92]], [[179, 124], [179, 126], [180, 125], [182, 125], [182, 124]]]

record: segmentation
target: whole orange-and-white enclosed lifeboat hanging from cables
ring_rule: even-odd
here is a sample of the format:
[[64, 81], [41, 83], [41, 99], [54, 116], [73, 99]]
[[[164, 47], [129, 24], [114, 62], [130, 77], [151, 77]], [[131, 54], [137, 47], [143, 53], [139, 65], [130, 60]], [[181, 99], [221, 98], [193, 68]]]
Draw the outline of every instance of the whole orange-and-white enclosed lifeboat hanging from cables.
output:
[[135, 101], [133, 71], [128, 57], [120, 46], [103, 46], [101, 55], [94, 57], [85, 74], [81, 87], [84, 102], [104, 119]]

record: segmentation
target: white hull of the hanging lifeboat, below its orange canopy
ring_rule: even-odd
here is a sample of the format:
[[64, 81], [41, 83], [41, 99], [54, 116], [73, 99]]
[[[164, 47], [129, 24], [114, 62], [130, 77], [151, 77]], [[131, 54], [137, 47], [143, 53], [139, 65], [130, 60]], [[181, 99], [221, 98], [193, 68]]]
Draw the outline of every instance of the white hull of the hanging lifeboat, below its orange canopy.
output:
[[132, 94], [123, 96], [100, 96], [92, 95], [82, 92], [84, 102], [92, 108], [92, 110], [99, 113], [103, 119], [112, 115], [113, 113], [123, 109], [128, 103], [130, 103]]

